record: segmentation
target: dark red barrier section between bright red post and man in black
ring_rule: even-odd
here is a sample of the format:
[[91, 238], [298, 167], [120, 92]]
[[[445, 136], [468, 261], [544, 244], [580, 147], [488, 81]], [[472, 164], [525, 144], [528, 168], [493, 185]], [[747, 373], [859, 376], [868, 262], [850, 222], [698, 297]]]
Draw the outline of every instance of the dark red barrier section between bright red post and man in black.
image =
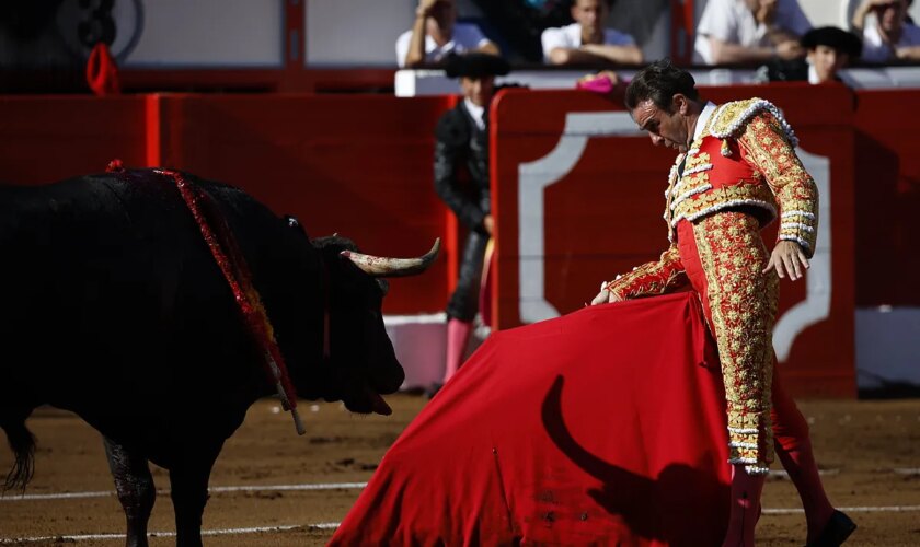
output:
[[[300, 218], [311, 235], [338, 232], [390, 256], [419, 255], [445, 235], [432, 162], [447, 97], [164, 95], [160, 103], [159, 163], [240, 186]], [[394, 280], [384, 311], [442, 310], [446, 255], [424, 276]]]

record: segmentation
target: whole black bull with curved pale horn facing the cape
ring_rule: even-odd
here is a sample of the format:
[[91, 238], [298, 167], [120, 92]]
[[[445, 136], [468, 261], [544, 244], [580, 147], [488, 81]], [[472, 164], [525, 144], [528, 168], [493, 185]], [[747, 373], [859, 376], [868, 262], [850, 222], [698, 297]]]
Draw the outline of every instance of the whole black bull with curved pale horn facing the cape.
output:
[[[222, 211], [297, 395], [387, 414], [380, 394], [404, 374], [376, 277], [419, 272], [437, 249], [349, 260], [341, 255], [356, 251], [348, 240], [311, 242], [243, 191], [186, 176]], [[211, 466], [274, 387], [173, 181], [140, 170], [0, 186], [0, 427], [16, 456], [5, 487], [31, 478], [32, 410], [72, 410], [105, 438], [128, 544], [146, 544], [148, 461], [170, 472], [177, 543], [199, 544]]]

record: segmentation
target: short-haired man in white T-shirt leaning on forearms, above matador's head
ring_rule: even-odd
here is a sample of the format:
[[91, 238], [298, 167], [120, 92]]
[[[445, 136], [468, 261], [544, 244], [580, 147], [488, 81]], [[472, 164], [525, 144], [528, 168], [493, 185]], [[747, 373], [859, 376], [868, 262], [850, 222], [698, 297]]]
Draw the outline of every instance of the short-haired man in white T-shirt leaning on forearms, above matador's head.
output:
[[540, 37], [543, 60], [550, 65], [642, 63], [642, 50], [632, 36], [605, 27], [610, 12], [607, 1], [575, 0], [572, 4], [575, 23], [543, 31]]

